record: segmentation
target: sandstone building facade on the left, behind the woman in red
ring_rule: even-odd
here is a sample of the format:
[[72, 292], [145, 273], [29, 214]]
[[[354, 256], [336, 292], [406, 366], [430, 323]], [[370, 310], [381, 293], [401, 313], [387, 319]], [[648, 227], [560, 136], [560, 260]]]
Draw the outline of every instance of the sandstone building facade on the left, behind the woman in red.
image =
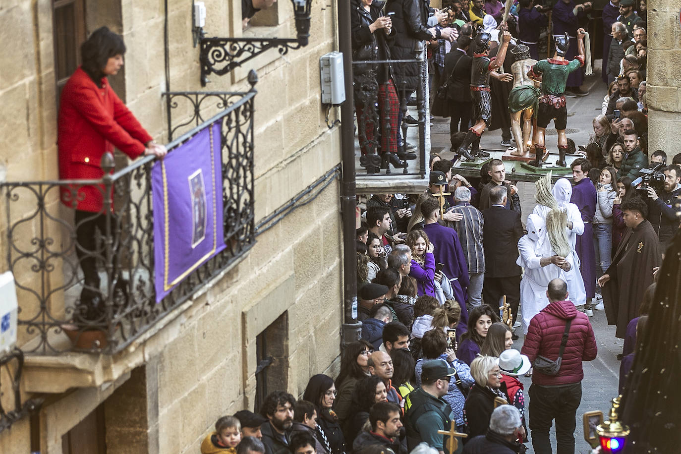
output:
[[[245, 30], [241, 1], [205, 5], [208, 36], [296, 36], [290, 1], [257, 13]], [[57, 49], [57, 33], [72, 44], [102, 25], [123, 35], [125, 67], [112, 86], [165, 143], [166, 83], [171, 91], [202, 90], [191, 11], [191, 0], [3, 0], [0, 180], [58, 178], [58, 87], [68, 76], [63, 62], [77, 56]], [[296, 209], [124, 351], [27, 355], [22, 400], [39, 398], [42, 406], [0, 432], [0, 452], [197, 453], [219, 417], [253, 410], [266, 391], [287, 389], [298, 397], [311, 375], [337, 373], [343, 319], [338, 182], [300, 208], [289, 204], [340, 162], [339, 129], [327, 127], [319, 90], [319, 57], [338, 48], [336, 2], [313, 1], [310, 34], [308, 46], [285, 56], [268, 50], [225, 76], [211, 75], [204, 88], [248, 91], [247, 73], [257, 71], [255, 223], [287, 204]], [[125, 158], [116, 160], [126, 165]], [[7, 228], [3, 213], [1, 243]], [[0, 254], [1, 272], [6, 244]], [[27, 332], [19, 337], [19, 346], [31, 340]], [[265, 351], [257, 351], [259, 345]], [[273, 361], [256, 378], [262, 356]], [[2, 373], [7, 410], [12, 392]]]

